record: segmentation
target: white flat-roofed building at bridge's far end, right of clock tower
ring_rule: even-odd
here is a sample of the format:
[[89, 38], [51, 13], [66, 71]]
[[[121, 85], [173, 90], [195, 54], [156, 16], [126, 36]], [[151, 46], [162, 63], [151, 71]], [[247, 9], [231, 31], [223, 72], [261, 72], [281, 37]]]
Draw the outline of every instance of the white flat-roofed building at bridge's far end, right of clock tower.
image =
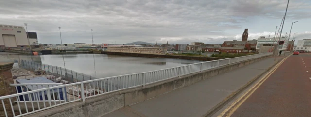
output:
[[[287, 50], [287, 46], [289, 44], [288, 40], [285, 37], [282, 37], [279, 40], [284, 41], [284, 44], [279, 44], [278, 49], [283, 51]], [[278, 39], [275, 40], [274, 38], [265, 38], [265, 37], [258, 38], [256, 51], [260, 49], [261, 44], [263, 44], [263, 46], [273, 46], [275, 44], [278, 44]]]

